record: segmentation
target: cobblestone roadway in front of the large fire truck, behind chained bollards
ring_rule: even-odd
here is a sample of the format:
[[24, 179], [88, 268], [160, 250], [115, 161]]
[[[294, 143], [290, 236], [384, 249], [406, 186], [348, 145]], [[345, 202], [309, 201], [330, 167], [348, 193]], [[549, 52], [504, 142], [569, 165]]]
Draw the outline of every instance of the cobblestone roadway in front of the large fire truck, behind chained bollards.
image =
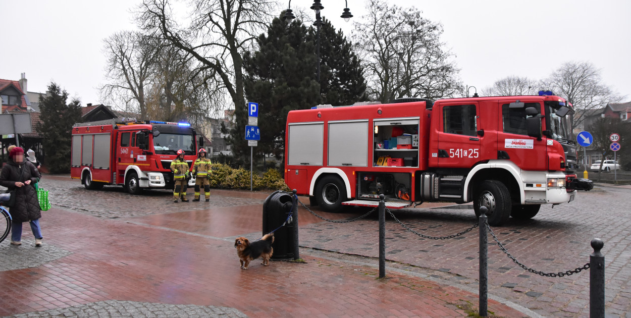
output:
[[[581, 192], [576, 201], [542, 206], [532, 220], [510, 218], [493, 228], [518, 261], [545, 273], [584, 266], [593, 252], [589, 243], [604, 241], [606, 312], [631, 317], [631, 189], [600, 187]], [[475, 224], [471, 209], [400, 209], [392, 211], [408, 227], [440, 237]], [[386, 216], [386, 258], [437, 271], [435, 275], [476, 286], [478, 229], [451, 240], [428, 240], [409, 232]], [[345, 225], [317, 223], [300, 228], [300, 244], [343, 254], [379, 257], [377, 216]], [[589, 270], [562, 278], [529, 273], [512, 262], [489, 235], [489, 291], [547, 317], [589, 315]], [[441, 274], [442, 273], [442, 274]]]

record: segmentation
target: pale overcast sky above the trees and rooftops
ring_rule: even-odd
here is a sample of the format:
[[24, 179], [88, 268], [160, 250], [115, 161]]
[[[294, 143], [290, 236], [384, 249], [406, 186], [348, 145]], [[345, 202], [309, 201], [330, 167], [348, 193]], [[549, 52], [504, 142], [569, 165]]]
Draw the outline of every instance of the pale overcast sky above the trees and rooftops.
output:
[[[442, 23], [442, 40], [456, 55], [464, 85], [478, 92], [505, 76], [541, 79], [563, 62], [588, 61], [601, 69], [603, 83], [631, 101], [631, 1], [383, 1], [413, 4]], [[339, 18], [343, 1], [322, 0], [322, 15], [350, 35], [365, 4], [347, 2], [355, 15], [349, 23]], [[136, 28], [129, 11], [138, 3], [0, 0], [0, 78], [18, 80], [26, 73], [28, 91], [43, 93], [55, 81], [83, 105], [100, 103], [102, 40]], [[311, 3], [293, 0], [292, 8]]]

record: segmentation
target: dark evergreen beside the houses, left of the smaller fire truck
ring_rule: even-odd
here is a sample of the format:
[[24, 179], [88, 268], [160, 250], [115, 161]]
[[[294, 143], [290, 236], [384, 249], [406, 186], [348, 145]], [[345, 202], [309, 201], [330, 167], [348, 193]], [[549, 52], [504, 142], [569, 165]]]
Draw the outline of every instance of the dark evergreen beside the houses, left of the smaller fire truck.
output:
[[45, 165], [52, 174], [70, 172], [71, 130], [81, 119], [81, 102], [72, 100], [67, 104], [68, 93], [56, 83], [48, 86], [49, 95], [40, 97], [40, 123], [37, 130], [44, 139]]

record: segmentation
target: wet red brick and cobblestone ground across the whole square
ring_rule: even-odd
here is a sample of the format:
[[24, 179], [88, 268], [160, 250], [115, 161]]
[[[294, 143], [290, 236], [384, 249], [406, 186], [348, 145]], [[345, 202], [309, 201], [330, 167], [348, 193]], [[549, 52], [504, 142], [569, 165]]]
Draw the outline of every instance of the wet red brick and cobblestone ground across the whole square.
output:
[[[477, 311], [477, 228], [430, 240], [387, 216], [387, 278], [378, 279], [376, 215], [330, 223], [301, 206], [305, 263], [264, 267], [254, 261], [244, 271], [233, 242], [260, 237], [269, 192], [213, 189], [209, 203], [175, 204], [169, 191], [87, 191], [67, 176], [45, 175], [41, 185], [53, 203], [41, 220], [44, 246], [34, 246], [27, 225], [23, 245], [0, 243], [0, 316], [466, 317], [465, 307]], [[583, 266], [590, 240], [603, 239], [608, 317], [631, 317], [629, 197], [631, 189], [602, 186], [572, 203], [543, 206], [533, 220], [510, 219], [493, 230], [519, 261], [553, 273]], [[447, 205], [392, 212], [409, 228], [435, 237], [475, 223], [473, 210]], [[365, 211], [314, 208], [336, 220]], [[538, 276], [490, 245], [489, 280], [489, 310], [498, 316], [589, 315], [589, 270]]]

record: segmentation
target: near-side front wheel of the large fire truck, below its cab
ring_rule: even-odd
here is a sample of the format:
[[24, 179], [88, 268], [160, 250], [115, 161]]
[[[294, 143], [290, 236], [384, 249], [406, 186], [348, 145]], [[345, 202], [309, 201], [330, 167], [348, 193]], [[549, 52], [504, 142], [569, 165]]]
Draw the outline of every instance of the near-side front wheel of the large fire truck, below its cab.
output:
[[488, 209], [488, 225], [499, 227], [510, 218], [509, 189], [498, 180], [484, 180], [475, 192], [473, 209], [476, 216], [480, 216], [480, 207]]

